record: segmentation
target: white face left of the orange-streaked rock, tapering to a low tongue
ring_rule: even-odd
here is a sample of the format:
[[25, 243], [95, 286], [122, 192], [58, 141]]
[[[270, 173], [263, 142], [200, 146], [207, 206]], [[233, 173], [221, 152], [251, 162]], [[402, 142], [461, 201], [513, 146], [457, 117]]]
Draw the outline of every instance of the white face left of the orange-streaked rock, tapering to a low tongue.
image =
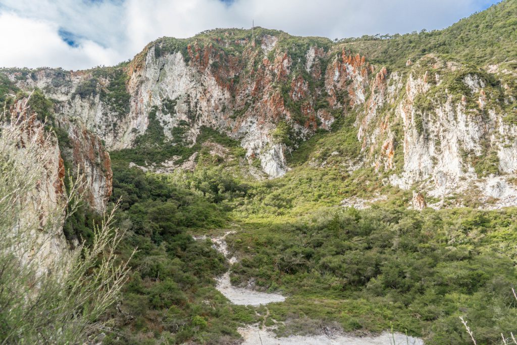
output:
[[[266, 41], [273, 46], [276, 42], [272, 39]], [[172, 138], [171, 131], [180, 121], [191, 124], [187, 133], [191, 142], [195, 141], [202, 126], [215, 128], [240, 139], [242, 147], [247, 150], [247, 157], [260, 159], [264, 171], [271, 177], [286, 172], [283, 148], [270, 145], [269, 133], [276, 126], [272, 123], [257, 126], [258, 119], [253, 113], [240, 121], [232, 119], [230, 92], [217, 83], [209, 68], [200, 71], [197, 67], [188, 66], [181, 53], [156, 58], [154, 50], [149, 50], [144, 68], [133, 74], [129, 88], [134, 90], [131, 111], [136, 114], [135, 118], [142, 119], [141, 124], [146, 126], [144, 118], [151, 107], [156, 106], [157, 118], [166, 137]], [[173, 114], [163, 111], [163, 102], [168, 99], [176, 101]], [[138, 127], [136, 132], [144, 132], [145, 126]]]

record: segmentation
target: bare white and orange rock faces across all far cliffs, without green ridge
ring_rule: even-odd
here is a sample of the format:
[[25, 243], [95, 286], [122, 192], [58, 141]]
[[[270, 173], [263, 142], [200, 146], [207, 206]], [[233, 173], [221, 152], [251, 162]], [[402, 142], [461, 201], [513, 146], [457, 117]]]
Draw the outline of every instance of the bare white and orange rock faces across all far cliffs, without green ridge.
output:
[[[239, 140], [249, 162], [260, 160], [269, 177], [278, 177], [288, 171], [286, 153], [296, 148], [273, 138], [279, 122], [286, 122], [296, 139], [306, 140], [317, 128], [329, 130], [337, 110], [353, 109], [358, 112], [355, 126], [362, 145], [360, 164], [354, 165], [387, 173], [385, 183], [422, 187], [425, 194], [444, 199], [478, 186], [469, 181], [486, 178], [482, 160], [498, 160], [505, 181], [517, 173], [517, 126], [505, 121], [504, 104], [483, 73], [433, 55], [408, 61], [404, 71], [388, 71], [360, 55], [329, 55], [312, 46], [301, 68], [322, 82], [313, 92], [305, 77], [291, 74], [299, 61], [281, 50], [278, 37], [258, 39], [257, 49], [246, 40], [220, 43], [238, 44], [244, 49], [238, 57], [195, 40], [187, 52], [168, 52], [159, 41], [151, 44], [127, 67], [131, 100], [123, 115], [104, 104], [100, 92], [71, 97], [92, 72], [42, 69], [22, 81], [14, 74], [9, 78], [22, 88], [38, 86], [62, 100], [61, 112], [80, 118], [110, 149], [131, 146], [155, 112], [165, 138], [177, 139], [175, 128], [183, 126], [183, 139], [193, 144], [203, 127], [215, 129]], [[324, 58], [329, 59], [326, 68]], [[498, 65], [487, 69], [496, 76], [513, 76]], [[459, 77], [448, 78], [451, 73]], [[97, 87], [101, 90], [111, 82], [100, 77]], [[503, 103], [511, 104], [511, 87], [501, 87]], [[322, 99], [328, 107], [317, 109], [315, 103]], [[296, 109], [291, 102], [296, 102]], [[490, 197], [484, 189], [479, 192]]]

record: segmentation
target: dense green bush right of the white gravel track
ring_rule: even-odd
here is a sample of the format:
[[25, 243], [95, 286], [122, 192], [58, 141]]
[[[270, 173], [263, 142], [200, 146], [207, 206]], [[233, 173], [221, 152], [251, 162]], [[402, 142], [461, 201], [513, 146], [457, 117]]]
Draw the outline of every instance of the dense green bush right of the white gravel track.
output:
[[[232, 281], [253, 280], [259, 289], [292, 296], [292, 303], [270, 308], [277, 320], [310, 310], [312, 318], [340, 322], [347, 331], [381, 331], [393, 322], [447, 344], [469, 341], [463, 315], [480, 343], [492, 343], [515, 331], [516, 219], [515, 209], [352, 208], [273, 226], [253, 223], [230, 237], [242, 258]], [[343, 306], [351, 300], [360, 301], [357, 309]]]

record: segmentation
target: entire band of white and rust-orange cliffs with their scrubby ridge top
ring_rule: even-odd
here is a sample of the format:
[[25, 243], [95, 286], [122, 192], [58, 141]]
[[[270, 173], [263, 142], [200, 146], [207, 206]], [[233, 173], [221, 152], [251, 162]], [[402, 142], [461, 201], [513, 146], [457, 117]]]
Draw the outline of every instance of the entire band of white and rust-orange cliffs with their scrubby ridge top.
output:
[[[40, 88], [77, 124], [64, 127], [80, 143], [71, 150], [74, 161], [95, 161], [85, 171], [97, 208], [111, 188], [109, 159], [95, 156], [100, 144], [88, 131], [117, 150], [138, 145], [153, 121], [171, 145], [192, 146], [209, 127], [238, 140], [250, 164], [258, 159], [279, 177], [302, 141], [349, 117], [361, 146], [342, 159], [355, 162], [351, 170], [372, 169], [384, 185], [418, 191], [429, 199], [419, 205], [461, 205], [465, 196], [489, 207], [516, 205], [517, 64], [508, 56], [471, 57], [470, 38], [447, 52], [426, 41], [454, 40], [448, 31], [461, 34], [469, 20], [406, 35], [421, 40], [418, 52], [403, 46], [406, 36], [331, 42], [263, 28], [216, 29], [160, 38], [116, 67], [2, 72], [21, 89]], [[500, 39], [511, 25], [504, 30]], [[433, 49], [440, 52], [427, 52]], [[164, 154], [162, 161], [180, 166], [175, 159]]]

